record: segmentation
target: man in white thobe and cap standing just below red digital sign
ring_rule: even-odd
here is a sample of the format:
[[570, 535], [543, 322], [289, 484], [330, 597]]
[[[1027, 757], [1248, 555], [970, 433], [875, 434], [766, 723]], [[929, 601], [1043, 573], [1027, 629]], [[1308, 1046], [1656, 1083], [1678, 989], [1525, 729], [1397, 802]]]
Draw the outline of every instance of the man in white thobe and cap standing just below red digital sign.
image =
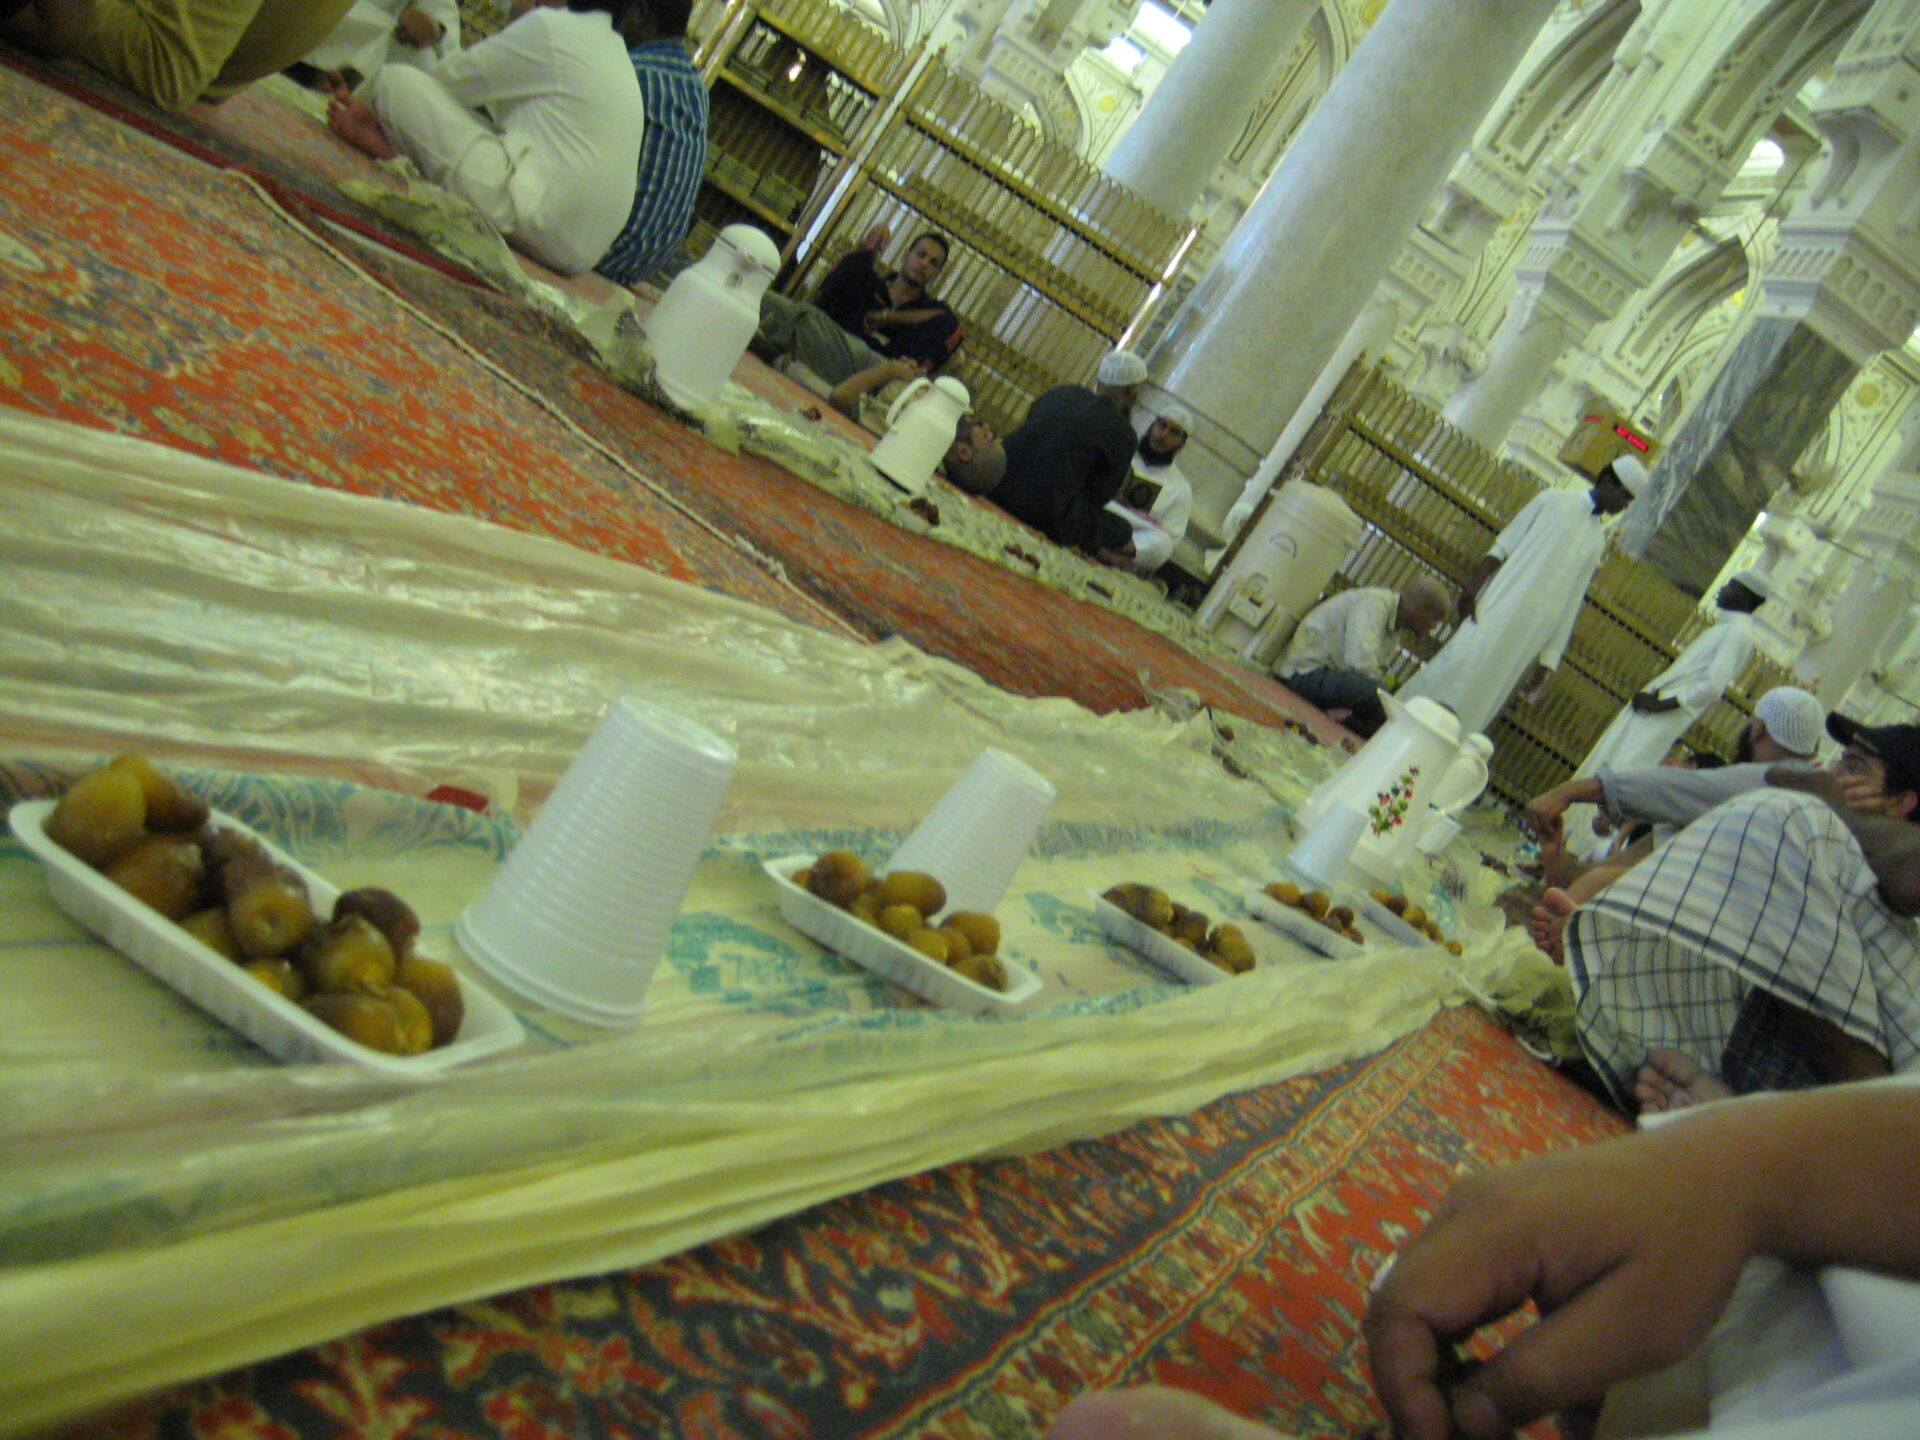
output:
[[1586, 586], [1607, 547], [1607, 518], [1647, 482], [1632, 455], [1607, 465], [1590, 490], [1544, 490], [1521, 507], [1467, 580], [1459, 628], [1400, 691], [1459, 716], [1461, 733], [1486, 730], [1526, 680], [1536, 699], [1559, 664]]

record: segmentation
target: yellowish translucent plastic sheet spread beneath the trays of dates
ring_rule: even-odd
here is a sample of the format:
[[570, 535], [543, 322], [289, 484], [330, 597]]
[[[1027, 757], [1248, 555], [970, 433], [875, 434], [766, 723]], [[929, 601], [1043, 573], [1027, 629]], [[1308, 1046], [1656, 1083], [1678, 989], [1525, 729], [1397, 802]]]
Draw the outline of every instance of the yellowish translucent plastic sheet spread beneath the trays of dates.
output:
[[[472, 520], [0, 417], [0, 799], [140, 747], [422, 947], [618, 693], [741, 753], [647, 1014], [426, 1083], [276, 1066], [90, 939], [0, 843], [0, 1430], [361, 1325], [636, 1265], [966, 1156], [1179, 1114], [1384, 1046], [1530, 964], [1469, 887], [1461, 960], [1277, 935], [1183, 987], [1108, 947], [1117, 879], [1236, 914], [1334, 758], [1206, 716], [1094, 716]], [[789, 929], [758, 860], [883, 858], [998, 745], [1060, 801], [1000, 906], [1043, 989], [924, 1006]], [[1242, 758], [1242, 764], [1246, 760]], [[419, 799], [457, 783], [488, 814]], [[1275, 799], [1279, 797], [1279, 801]], [[470, 972], [468, 972], [470, 973]]]

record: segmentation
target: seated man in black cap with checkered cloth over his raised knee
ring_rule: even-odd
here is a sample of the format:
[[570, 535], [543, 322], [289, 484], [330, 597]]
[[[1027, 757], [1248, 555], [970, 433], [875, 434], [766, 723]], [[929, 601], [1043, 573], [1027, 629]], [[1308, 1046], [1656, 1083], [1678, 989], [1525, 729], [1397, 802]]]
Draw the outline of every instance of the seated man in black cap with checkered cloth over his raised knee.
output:
[[1736, 1094], [1920, 1066], [1920, 726], [1830, 730], [1830, 770], [1770, 772], [1574, 912], [1574, 1025], [1622, 1108], [1655, 1052]]

